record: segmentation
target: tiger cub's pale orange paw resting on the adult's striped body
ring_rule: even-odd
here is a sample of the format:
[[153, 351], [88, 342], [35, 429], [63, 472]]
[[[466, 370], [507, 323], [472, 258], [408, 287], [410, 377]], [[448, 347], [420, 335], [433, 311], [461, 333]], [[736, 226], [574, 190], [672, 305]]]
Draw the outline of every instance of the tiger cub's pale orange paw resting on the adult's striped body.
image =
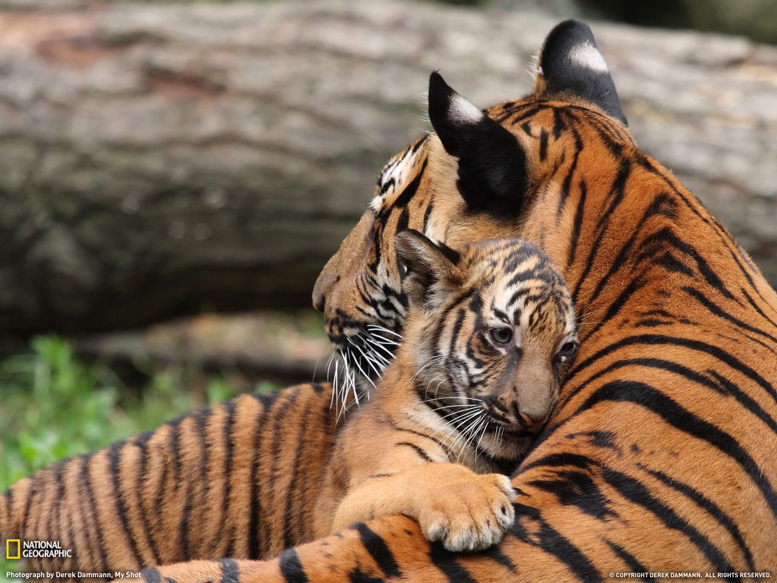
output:
[[509, 478], [468, 472], [435, 487], [418, 516], [423, 536], [454, 552], [487, 549], [515, 519]]

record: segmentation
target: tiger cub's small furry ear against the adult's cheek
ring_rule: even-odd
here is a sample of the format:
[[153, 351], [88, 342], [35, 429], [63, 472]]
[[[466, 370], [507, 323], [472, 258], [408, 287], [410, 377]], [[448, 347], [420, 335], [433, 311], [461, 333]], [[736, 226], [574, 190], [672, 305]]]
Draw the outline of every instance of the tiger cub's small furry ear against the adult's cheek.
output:
[[[406, 273], [402, 291], [424, 311], [436, 308], [463, 283], [459, 254], [443, 243], [433, 243], [413, 229], [394, 239], [396, 258]], [[402, 270], [400, 270], [402, 273]]]

